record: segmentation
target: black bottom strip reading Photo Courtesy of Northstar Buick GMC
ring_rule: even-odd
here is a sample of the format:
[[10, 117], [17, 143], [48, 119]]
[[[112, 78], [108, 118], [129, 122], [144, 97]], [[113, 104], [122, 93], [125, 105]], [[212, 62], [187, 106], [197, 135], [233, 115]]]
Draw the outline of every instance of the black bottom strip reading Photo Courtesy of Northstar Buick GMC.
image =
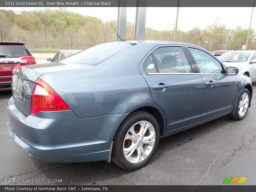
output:
[[[31, 190], [32, 189], [32, 190]], [[0, 186], [1, 192], [254, 192], [256, 190], [255, 185], [240, 185], [240, 184], [225, 184], [225, 185], [161, 185], [161, 186], [146, 186], [146, 185], [91, 185], [91, 186], [81, 186], [81, 185], [5, 185]]]

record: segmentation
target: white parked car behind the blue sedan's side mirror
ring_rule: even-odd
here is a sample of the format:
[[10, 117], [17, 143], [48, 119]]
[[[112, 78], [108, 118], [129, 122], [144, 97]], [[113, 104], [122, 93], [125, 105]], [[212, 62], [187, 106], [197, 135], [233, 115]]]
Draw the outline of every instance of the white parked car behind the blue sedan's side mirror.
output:
[[256, 81], [256, 51], [232, 51], [219, 57], [227, 67], [239, 68], [239, 74], [248, 76], [252, 82]]

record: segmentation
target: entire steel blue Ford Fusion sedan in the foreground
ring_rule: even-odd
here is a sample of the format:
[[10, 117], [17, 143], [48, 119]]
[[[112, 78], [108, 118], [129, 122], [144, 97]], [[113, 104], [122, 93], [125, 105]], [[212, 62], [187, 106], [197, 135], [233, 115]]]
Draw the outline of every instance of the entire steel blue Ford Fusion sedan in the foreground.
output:
[[243, 119], [252, 83], [192, 44], [120, 41], [13, 70], [7, 129], [48, 162], [144, 166], [159, 140], [221, 116]]

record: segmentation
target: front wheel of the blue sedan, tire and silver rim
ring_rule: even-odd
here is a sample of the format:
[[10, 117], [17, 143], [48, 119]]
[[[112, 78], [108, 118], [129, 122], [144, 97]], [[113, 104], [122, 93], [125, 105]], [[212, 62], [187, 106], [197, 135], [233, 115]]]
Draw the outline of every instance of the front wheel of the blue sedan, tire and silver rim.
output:
[[250, 97], [250, 92], [248, 91], [248, 89], [244, 88], [242, 92], [239, 94], [235, 115], [228, 115], [228, 117], [235, 120], [242, 120], [248, 112], [248, 106], [251, 100]]

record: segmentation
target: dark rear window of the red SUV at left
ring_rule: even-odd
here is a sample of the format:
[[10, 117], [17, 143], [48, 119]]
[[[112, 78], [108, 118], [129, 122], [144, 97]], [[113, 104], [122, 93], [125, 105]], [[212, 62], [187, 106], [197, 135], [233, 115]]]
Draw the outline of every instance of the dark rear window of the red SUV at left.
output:
[[0, 58], [19, 58], [28, 55], [25, 45], [0, 45]]

